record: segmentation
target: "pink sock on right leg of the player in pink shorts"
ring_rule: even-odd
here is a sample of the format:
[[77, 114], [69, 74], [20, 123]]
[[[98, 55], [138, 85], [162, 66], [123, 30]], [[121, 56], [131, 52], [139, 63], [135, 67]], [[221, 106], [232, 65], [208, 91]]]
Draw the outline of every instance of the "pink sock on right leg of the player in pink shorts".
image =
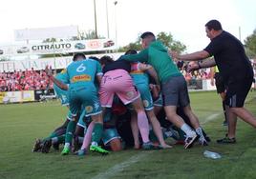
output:
[[143, 143], [149, 142], [149, 126], [147, 116], [144, 111], [138, 112], [138, 127]]

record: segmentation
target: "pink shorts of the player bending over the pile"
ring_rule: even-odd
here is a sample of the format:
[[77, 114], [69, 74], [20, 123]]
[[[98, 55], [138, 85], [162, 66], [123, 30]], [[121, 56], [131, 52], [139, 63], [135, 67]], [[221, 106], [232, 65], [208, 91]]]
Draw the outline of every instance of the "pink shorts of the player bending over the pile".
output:
[[132, 103], [140, 96], [126, 70], [110, 70], [104, 74], [99, 88], [101, 106], [111, 108], [115, 93], [124, 105]]

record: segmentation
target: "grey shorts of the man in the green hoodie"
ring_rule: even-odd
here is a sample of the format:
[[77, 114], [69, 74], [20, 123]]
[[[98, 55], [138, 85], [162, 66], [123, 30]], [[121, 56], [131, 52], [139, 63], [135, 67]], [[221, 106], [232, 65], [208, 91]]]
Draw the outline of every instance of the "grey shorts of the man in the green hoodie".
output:
[[186, 107], [190, 100], [183, 76], [170, 77], [161, 83], [163, 106]]

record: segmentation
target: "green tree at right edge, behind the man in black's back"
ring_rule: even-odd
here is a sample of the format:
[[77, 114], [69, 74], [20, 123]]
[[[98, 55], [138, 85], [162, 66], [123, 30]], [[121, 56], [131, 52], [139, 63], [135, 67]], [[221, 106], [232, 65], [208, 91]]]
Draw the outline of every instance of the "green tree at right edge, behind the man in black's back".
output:
[[245, 52], [249, 58], [256, 58], [256, 30], [245, 39]]

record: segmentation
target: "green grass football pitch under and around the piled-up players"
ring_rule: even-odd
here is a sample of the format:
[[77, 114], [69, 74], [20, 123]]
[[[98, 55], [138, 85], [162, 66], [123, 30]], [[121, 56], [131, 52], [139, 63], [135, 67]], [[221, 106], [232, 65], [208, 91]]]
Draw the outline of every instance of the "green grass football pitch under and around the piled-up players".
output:
[[[57, 102], [0, 106], [0, 179], [16, 178], [256, 178], [256, 129], [241, 120], [237, 144], [218, 145], [226, 129], [221, 125], [221, 100], [215, 91], [190, 93], [191, 104], [211, 137], [208, 147], [166, 150], [123, 150], [108, 156], [79, 158], [59, 152], [32, 153], [34, 139], [47, 136], [63, 122], [66, 109]], [[256, 115], [256, 92], [245, 107]], [[204, 158], [203, 150], [222, 154]]]

